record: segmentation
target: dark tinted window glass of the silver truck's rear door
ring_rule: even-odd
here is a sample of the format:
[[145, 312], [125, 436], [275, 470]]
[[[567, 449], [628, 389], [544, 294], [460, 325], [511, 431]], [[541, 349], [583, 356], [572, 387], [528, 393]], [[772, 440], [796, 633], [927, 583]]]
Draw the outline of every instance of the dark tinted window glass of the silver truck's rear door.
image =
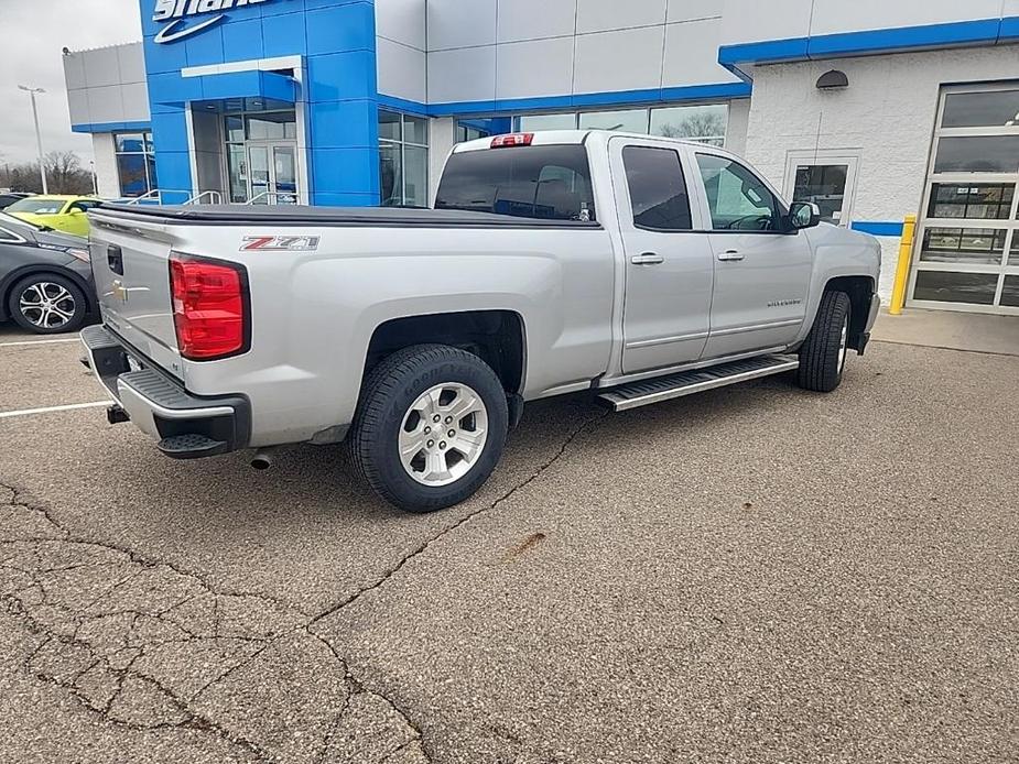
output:
[[622, 150], [633, 225], [654, 231], [689, 231], [690, 197], [680, 155], [672, 149], [627, 146]]

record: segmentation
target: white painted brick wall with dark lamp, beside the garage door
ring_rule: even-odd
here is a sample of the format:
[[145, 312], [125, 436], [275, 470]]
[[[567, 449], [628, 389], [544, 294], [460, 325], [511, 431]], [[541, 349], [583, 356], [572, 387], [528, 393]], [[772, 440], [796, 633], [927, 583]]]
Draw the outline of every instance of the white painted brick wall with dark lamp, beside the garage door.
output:
[[[920, 208], [942, 84], [1015, 79], [1017, 61], [999, 45], [756, 67], [746, 156], [783, 188], [790, 151], [859, 152], [853, 219], [901, 221]], [[833, 68], [849, 87], [817, 90]]]

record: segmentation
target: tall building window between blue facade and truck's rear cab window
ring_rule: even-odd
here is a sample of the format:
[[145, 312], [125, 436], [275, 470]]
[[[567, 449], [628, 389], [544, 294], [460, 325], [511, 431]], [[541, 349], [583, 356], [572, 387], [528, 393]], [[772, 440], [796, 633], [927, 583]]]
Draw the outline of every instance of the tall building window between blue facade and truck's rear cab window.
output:
[[429, 120], [379, 109], [383, 207], [429, 206]]

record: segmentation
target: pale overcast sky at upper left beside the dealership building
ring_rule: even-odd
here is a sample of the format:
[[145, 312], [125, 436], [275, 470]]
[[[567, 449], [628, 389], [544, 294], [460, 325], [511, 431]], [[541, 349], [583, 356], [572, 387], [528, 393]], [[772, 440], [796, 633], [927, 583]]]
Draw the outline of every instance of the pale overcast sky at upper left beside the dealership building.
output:
[[29, 94], [36, 96], [43, 150], [77, 152], [86, 166], [91, 137], [71, 132], [61, 51], [141, 40], [138, 0], [0, 0], [0, 163], [35, 159]]

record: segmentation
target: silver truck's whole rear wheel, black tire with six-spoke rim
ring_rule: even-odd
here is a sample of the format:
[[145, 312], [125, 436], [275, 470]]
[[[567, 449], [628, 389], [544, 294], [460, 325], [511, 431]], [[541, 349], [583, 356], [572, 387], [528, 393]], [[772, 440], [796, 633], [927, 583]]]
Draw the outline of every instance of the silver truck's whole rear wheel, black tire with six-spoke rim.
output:
[[408, 512], [434, 512], [488, 479], [508, 423], [506, 392], [487, 363], [445, 345], [418, 345], [371, 372], [351, 447], [379, 495]]

